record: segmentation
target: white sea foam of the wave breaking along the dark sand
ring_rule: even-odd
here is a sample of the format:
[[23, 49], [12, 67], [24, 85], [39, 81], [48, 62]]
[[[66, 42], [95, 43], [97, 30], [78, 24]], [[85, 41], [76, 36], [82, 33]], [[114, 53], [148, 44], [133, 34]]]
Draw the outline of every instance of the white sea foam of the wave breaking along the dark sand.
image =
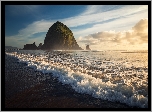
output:
[[[99, 60], [89, 56], [72, 56], [67, 55], [66, 53], [45, 53], [43, 51], [41, 51], [41, 53], [20, 51], [6, 54], [17, 57], [19, 62], [26, 63], [28, 67], [31, 67], [36, 71], [41, 71], [44, 75], [51, 73], [59, 82], [71, 85], [71, 87], [78, 93], [90, 94], [95, 98], [101, 98], [113, 102], [117, 101], [129, 106], [137, 106], [141, 108], [148, 107], [148, 93], [145, 94], [146, 88], [142, 88], [143, 92], [145, 92], [144, 94], [139, 92], [141, 91], [139, 88], [143, 83], [141, 82], [140, 84], [136, 83], [135, 85], [131, 85], [134, 81], [137, 79], [139, 80], [140, 78], [133, 77], [133, 70], [130, 70], [131, 75], [129, 76], [131, 78], [129, 78], [129, 70], [126, 69], [130, 69], [132, 66], [128, 62], [103, 61], [102, 59]], [[80, 64], [81, 62], [83, 62], [83, 64]], [[113, 67], [116, 68], [114, 69]], [[123, 72], [124, 69], [126, 71]], [[106, 72], [107, 70], [109, 70], [108, 73]], [[99, 71], [101, 74], [97, 74]], [[141, 71], [141, 73], [148, 75], [144, 70]], [[97, 76], [95, 77], [94, 74], [97, 74]], [[104, 78], [100, 78], [101, 75], [109, 80], [104, 81]], [[118, 76], [121, 77], [121, 81], [115, 79]], [[144, 78], [145, 77], [146, 76], [144, 76]], [[111, 79], [114, 79], [115, 83]], [[141, 80], [139, 80], [139, 82], [140, 81]]]

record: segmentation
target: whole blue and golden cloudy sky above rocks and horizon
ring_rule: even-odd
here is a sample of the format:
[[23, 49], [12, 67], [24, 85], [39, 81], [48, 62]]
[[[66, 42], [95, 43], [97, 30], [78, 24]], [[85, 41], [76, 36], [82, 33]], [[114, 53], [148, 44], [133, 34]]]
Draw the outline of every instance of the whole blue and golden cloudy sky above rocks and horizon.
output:
[[56, 21], [83, 49], [148, 50], [148, 5], [6, 5], [5, 46], [44, 44]]

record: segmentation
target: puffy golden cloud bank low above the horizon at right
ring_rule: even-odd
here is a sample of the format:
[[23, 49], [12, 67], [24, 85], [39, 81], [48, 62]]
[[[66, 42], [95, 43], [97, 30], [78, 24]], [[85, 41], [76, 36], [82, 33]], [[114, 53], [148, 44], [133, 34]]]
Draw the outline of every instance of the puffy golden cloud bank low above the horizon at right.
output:
[[98, 47], [103, 45], [103, 43], [107, 43], [106, 47], [111, 47], [110, 44], [113, 46], [145, 46], [145, 44], [148, 45], [148, 19], [141, 19], [131, 30], [128, 31], [101, 31], [83, 38], [79, 37], [77, 40], [81, 44], [90, 44]]

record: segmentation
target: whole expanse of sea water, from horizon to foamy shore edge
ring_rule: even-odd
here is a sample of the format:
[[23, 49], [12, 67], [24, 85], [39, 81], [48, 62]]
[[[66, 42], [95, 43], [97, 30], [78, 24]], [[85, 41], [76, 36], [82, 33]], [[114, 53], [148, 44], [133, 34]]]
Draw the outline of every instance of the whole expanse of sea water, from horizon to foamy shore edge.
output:
[[78, 93], [148, 107], [147, 51], [18, 50], [6, 54], [41, 71], [44, 77], [52, 73]]

